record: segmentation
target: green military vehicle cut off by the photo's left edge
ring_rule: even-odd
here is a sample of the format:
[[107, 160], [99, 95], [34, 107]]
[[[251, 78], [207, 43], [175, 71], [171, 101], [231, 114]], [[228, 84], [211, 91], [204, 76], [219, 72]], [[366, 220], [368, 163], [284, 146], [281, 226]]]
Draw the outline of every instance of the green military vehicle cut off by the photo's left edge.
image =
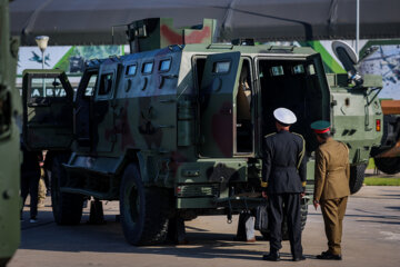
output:
[[18, 41], [10, 38], [9, 0], [0, 0], [0, 266], [20, 243], [20, 130], [16, 118], [21, 98], [16, 90]]

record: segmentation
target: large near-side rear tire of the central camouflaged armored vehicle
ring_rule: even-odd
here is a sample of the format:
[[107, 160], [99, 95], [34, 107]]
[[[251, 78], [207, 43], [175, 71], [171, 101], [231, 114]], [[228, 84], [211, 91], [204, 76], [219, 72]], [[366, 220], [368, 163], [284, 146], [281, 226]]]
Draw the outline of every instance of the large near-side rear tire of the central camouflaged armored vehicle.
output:
[[171, 199], [163, 188], [144, 187], [138, 167], [129, 165], [120, 187], [120, 220], [127, 241], [137, 246], [166, 241]]

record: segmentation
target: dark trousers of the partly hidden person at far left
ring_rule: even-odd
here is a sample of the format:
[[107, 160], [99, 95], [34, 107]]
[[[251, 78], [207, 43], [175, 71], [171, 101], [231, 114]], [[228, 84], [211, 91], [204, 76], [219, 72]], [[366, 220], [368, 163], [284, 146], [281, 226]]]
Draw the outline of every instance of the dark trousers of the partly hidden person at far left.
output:
[[[28, 195], [30, 195], [30, 217], [33, 219], [38, 215], [38, 190], [39, 190], [39, 179], [40, 171], [21, 171], [21, 197], [22, 197], [22, 208], [27, 200]], [[22, 210], [21, 210], [22, 214]]]

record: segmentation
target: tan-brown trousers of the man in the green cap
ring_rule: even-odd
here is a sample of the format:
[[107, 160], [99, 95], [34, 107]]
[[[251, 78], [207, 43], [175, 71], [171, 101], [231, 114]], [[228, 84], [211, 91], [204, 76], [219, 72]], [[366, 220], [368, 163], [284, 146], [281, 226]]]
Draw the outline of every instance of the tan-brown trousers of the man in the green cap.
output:
[[321, 200], [321, 210], [326, 227], [329, 253], [341, 255], [343, 217], [348, 197]]

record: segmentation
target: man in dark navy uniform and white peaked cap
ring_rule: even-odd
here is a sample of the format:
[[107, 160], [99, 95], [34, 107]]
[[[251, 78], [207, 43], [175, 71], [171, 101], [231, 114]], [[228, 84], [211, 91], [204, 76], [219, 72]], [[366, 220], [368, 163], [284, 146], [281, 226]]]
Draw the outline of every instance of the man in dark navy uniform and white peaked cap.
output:
[[288, 218], [290, 248], [293, 261], [304, 260], [301, 246], [300, 199], [306, 191], [306, 141], [289, 128], [297, 121], [292, 111], [273, 111], [277, 132], [266, 136], [261, 187], [270, 202], [270, 253], [264, 260], [280, 260], [282, 219]]

